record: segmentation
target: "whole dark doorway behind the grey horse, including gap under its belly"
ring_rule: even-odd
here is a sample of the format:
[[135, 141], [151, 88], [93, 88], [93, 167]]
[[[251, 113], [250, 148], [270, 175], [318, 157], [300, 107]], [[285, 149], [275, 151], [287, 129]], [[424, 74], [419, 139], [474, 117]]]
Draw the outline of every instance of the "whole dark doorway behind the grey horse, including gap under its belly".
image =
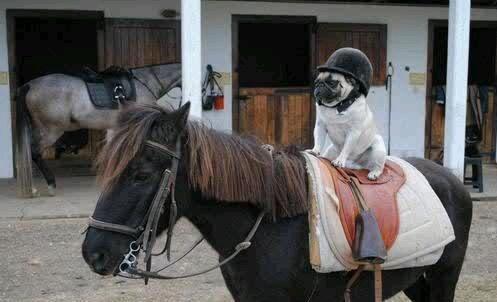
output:
[[[12, 91], [47, 74], [75, 74], [83, 67], [99, 70], [103, 16], [89, 11], [8, 10]], [[62, 159], [50, 161], [56, 174], [91, 173], [89, 137], [87, 129], [66, 132], [43, 156]]]

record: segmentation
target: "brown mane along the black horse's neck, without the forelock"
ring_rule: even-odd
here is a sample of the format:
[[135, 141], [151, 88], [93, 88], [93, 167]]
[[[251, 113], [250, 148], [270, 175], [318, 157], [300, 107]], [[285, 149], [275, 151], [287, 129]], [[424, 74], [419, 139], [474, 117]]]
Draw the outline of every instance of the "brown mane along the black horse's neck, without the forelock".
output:
[[298, 151], [271, 155], [255, 138], [195, 122], [188, 123], [186, 136], [190, 184], [204, 196], [252, 203], [284, 217], [307, 211], [305, 165]]

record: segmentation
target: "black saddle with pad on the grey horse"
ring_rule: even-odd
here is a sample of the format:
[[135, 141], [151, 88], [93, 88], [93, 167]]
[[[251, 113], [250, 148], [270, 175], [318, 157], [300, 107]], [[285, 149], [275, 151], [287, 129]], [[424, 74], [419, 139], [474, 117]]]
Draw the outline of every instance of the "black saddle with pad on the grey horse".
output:
[[111, 66], [97, 73], [85, 67], [79, 77], [85, 81], [91, 102], [97, 109], [118, 109], [119, 104], [136, 101], [133, 74], [128, 69]]

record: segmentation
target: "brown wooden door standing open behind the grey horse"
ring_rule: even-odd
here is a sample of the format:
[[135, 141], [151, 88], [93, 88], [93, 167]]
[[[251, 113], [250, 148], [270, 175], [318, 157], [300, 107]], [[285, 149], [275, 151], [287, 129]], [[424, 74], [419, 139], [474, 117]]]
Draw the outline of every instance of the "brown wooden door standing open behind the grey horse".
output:
[[[169, 20], [105, 19], [99, 34], [100, 69], [116, 65], [124, 68], [181, 61], [180, 22]], [[90, 131], [90, 148], [95, 157], [104, 131]]]

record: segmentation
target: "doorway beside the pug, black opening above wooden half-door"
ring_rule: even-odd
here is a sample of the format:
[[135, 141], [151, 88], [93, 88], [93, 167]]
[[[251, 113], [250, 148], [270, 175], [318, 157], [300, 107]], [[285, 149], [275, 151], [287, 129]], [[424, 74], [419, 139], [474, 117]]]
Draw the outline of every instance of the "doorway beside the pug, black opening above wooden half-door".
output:
[[314, 17], [233, 17], [233, 128], [274, 145], [312, 144]]

